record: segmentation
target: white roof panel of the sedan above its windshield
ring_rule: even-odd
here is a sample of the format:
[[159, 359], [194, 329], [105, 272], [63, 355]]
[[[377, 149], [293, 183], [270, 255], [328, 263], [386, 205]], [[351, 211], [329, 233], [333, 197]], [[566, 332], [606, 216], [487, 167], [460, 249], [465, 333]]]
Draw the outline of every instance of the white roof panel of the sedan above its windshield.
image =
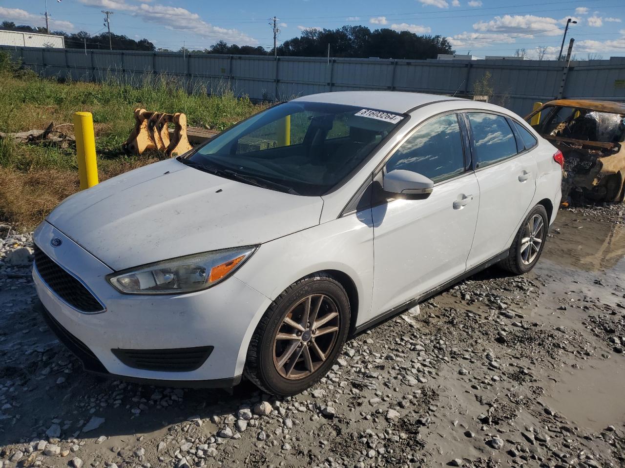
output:
[[461, 100], [440, 94], [405, 91], [334, 91], [309, 94], [293, 99], [301, 102], [327, 102], [329, 104], [355, 105], [357, 107], [387, 110], [404, 114], [423, 104], [441, 100]]

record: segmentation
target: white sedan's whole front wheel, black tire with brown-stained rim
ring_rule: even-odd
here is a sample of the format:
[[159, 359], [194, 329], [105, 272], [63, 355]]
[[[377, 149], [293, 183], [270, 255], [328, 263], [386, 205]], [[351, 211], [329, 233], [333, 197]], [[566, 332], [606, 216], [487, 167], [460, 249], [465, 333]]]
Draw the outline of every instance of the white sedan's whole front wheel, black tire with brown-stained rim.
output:
[[[315, 314], [317, 319], [306, 326], [307, 310], [309, 317]], [[311, 387], [336, 362], [350, 319], [347, 293], [332, 276], [317, 273], [296, 281], [262, 316], [247, 349], [244, 374], [262, 391], [276, 396]]]

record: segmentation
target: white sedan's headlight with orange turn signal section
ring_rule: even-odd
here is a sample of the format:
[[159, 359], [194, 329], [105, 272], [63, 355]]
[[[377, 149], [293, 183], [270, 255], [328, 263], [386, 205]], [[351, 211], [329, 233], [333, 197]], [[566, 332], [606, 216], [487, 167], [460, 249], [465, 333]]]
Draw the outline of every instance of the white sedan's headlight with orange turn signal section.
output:
[[149, 265], [108, 275], [106, 279], [126, 294], [179, 294], [210, 288], [232, 275], [257, 246], [229, 248]]

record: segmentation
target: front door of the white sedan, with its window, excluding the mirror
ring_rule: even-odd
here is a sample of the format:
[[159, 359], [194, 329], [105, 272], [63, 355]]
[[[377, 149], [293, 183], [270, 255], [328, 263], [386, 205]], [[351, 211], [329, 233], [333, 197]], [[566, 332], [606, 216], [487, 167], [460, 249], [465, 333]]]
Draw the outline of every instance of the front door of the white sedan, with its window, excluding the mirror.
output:
[[431, 178], [420, 200], [372, 208], [372, 315], [384, 313], [464, 273], [477, 221], [479, 187], [466, 163], [456, 114], [419, 125], [386, 163]]

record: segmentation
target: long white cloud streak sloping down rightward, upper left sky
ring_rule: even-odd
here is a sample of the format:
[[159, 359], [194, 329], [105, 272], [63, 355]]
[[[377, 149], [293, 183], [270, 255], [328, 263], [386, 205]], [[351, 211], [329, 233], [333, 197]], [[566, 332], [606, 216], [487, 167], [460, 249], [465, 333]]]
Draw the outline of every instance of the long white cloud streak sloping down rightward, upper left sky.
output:
[[226, 29], [224, 27], [213, 26], [202, 20], [197, 13], [193, 13], [186, 8], [148, 5], [128, 4], [126, 0], [79, 0], [82, 4], [94, 7], [105, 7], [112, 10], [127, 11], [133, 16], [140, 17], [143, 21], [161, 24], [166, 29], [175, 31], [191, 32], [197, 36], [206, 37], [213, 41], [236, 42], [239, 45], [256, 45], [258, 41], [244, 32], [237, 29]]

